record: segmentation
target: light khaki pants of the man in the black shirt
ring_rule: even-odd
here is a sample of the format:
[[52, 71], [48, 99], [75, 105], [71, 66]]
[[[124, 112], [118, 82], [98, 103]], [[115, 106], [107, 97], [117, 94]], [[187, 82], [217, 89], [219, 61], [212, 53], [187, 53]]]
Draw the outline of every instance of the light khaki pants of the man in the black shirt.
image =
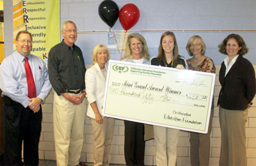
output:
[[[70, 95], [80, 95], [72, 94]], [[77, 165], [83, 147], [85, 103], [73, 105], [54, 92], [53, 128], [58, 166]]]

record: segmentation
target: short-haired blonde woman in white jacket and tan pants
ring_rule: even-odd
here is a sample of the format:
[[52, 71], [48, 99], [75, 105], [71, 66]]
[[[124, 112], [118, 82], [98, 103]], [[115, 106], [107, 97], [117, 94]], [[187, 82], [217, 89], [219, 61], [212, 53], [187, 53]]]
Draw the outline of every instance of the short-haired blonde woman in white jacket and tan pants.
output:
[[109, 50], [104, 45], [97, 45], [92, 54], [94, 65], [85, 73], [86, 96], [89, 103], [87, 116], [91, 119], [94, 132], [94, 165], [109, 165], [108, 156], [115, 125], [115, 119], [102, 116], [108, 60]]

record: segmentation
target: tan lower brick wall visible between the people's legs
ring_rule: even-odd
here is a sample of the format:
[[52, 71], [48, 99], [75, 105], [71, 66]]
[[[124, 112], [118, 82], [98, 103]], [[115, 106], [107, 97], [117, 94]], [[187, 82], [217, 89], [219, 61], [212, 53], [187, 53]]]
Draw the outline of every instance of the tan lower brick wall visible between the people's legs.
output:
[[[219, 73], [220, 65], [216, 65], [216, 73]], [[255, 66], [256, 70], [256, 66]], [[214, 87], [214, 117], [212, 121], [211, 132], [211, 149], [210, 149], [210, 165], [218, 165], [220, 157], [221, 133], [218, 107], [216, 106], [218, 94], [220, 92], [220, 82], [218, 74]], [[43, 123], [42, 133], [40, 137], [40, 159], [56, 160], [54, 152], [54, 136], [52, 127], [52, 99], [53, 94], [49, 94], [45, 104], [43, 105]], [[254, 98], [253, 103], [256, 103]], [[248, 121], [246, 123], [246, 151], [247, 151], [247, 166], [255, 165], [256, 163], [256, 107], [249, 110]], [[180, 132], [179, 144], [177, 151], [177, 165], [190, 165], [189, 158], [189, 132]], [[86, 117], [84, 124], [84, 144], [81, 155], [82, 162], [93, 162], [93, 130], [90, 124], [90, 119]], [[111, 144], [110, 163], [125, 164], [124, 160], [124, 122], [116, 119], [113, 141]], [[145, 164], [156, 165], [156, 147], [154, 140], [149, 140], [146, 143], [145, 149]]]

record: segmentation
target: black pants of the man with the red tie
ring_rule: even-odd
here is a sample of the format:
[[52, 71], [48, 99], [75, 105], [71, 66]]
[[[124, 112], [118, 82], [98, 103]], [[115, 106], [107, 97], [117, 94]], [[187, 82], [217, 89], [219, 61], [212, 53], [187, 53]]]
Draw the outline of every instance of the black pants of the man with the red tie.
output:
[[38, 143], [42, 128], [42, 107], [36, 113], [29, 107], [4, 97], [4, 165], [38, 165]]

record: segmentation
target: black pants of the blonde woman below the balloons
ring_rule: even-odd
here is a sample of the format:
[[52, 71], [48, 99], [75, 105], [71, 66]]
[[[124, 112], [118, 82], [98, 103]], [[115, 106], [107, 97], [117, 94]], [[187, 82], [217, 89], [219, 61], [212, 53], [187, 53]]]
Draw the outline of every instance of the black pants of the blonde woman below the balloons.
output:
[[126, 165], [144, 165], [144, 124], [124, 121], [124, 155]]

